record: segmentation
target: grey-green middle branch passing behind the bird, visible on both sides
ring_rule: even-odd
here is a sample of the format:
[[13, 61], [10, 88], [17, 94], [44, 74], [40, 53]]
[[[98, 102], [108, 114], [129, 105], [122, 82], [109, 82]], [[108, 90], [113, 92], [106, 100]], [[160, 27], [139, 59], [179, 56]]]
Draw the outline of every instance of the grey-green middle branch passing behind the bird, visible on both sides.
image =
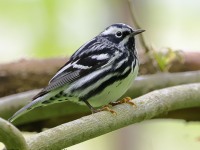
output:
[[[124, 96], [131, 96], [135, 98], [155, 89], [195, 82], [200, 82], [200, 71], [183, 73], [160, 73], [154, 75], [139, 76], [138, 78], [136, 78], [131, 88], [127, 91], [127, 93]], [[8, 119], [17, 110], [26, 105], [31, 100], [31, 98], [38, 92], [39, 90], [34, 90], [1, 98], [0, 117]], [[90, 113], [90, 111], [86, 106], [74, 104], [72, 102], [66, 102], [35, 109], [20, 117], [14, 123], [16, 125], [21, 125], [27, 122], [51, 119], [49, 120], [49, 123], [45, 121], [46, 123], [43, 122], [37, 126], [31, 125], [31, 127], [34, 127], [34, 129], [29, 129], [40, 130], [43, 127], [52, 127], [58, 125], [58, 117], [63, 116], [63, 118], [61, 118], [61, 122], [66, 122], [77, 119], [80, 116], [83, 116], [88, 113]], [[53, 120], [55, 121], [53, 122]], [[38, 129], [35, 129], [36, 127]]]

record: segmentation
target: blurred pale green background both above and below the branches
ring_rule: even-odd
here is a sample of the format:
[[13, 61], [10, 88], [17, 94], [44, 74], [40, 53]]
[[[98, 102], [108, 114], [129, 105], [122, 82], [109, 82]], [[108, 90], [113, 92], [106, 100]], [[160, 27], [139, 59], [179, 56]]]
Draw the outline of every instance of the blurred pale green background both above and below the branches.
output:
[[[133, 0], [145, 40], [157, 48], [200, 51], [199, 0]], [[0, 63], [70, 56], [108, 25], [132, 25], [126, 0], [0, 0]], [[68, 150], [199, 150], [200, 124], [151, 120]]]

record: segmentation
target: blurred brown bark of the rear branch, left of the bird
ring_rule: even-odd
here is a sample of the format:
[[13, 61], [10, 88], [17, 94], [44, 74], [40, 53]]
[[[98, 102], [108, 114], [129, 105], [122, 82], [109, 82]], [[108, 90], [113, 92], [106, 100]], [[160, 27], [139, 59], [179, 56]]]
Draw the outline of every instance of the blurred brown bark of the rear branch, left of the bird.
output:
[[0, 65], [0, 97], [42, 88], [66, 58], [20, 60]]

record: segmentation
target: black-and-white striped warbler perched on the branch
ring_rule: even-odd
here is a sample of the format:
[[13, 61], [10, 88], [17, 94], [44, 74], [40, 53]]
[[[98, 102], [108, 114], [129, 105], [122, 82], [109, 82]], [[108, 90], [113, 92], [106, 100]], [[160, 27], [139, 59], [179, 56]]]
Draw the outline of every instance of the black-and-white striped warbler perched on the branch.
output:
[[138, 73], [139, 62], [134, 30], [122, 23], [113, 24], [81, 46], [55, 74], [31, 103], [9, 120], [49, 104], [63, 101], [85, 103], [92, 112], [118, 100]]

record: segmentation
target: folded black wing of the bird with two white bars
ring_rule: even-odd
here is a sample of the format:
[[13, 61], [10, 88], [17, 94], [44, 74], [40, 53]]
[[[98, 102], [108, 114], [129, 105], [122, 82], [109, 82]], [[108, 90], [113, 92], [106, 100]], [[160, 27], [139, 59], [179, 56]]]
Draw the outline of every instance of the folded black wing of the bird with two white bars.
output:
[[49, 85], [38, 93], [33, 100], [105, 66], [111, 58], [111, 53], [106, 52], [105, 48], [99, 51], [87, 49], [85, 53], [73, 55], [50, 80]]

